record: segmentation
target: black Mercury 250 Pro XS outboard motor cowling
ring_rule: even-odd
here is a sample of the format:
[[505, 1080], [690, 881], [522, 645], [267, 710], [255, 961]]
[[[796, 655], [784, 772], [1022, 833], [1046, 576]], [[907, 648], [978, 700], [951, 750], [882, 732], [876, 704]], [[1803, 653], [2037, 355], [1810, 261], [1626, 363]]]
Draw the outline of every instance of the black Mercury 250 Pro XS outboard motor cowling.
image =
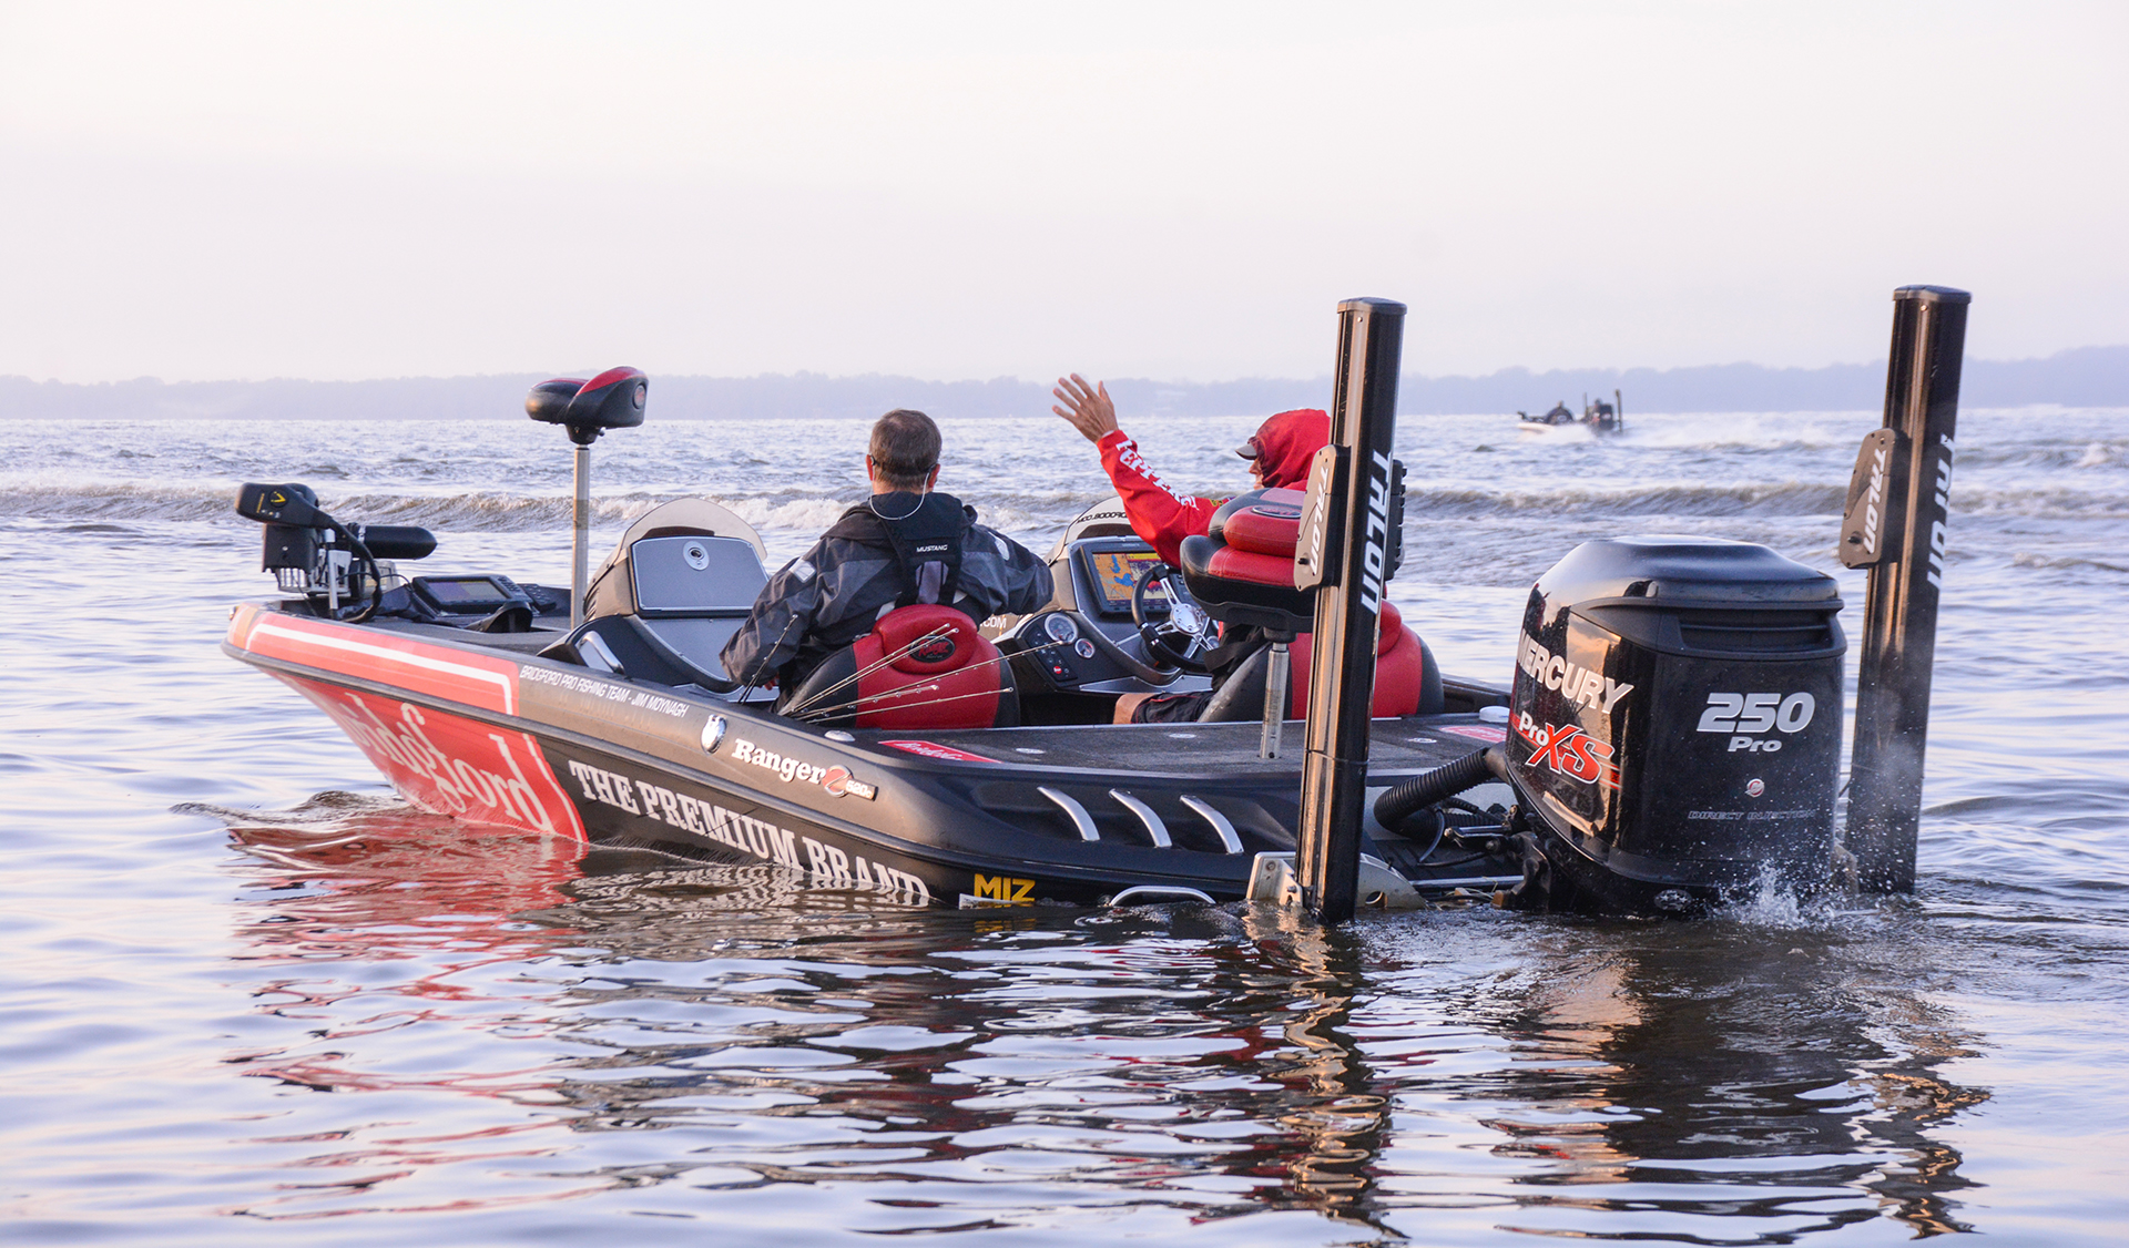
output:
[[1682, 912], [1827, 884], [1839, 588], [1763, 545], [1586, 541], [1531, 590], [1507, 762], [1569, 909]]

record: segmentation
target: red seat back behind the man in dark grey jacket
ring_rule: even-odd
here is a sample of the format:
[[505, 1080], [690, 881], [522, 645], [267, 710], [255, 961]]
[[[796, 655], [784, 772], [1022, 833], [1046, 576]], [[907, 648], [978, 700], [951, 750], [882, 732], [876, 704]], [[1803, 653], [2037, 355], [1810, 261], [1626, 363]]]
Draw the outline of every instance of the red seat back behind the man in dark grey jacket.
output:
[[1005, 658], [952, 607], [896, 607], [815, 667], [779, 709], [828, 728], [1011, 728]]

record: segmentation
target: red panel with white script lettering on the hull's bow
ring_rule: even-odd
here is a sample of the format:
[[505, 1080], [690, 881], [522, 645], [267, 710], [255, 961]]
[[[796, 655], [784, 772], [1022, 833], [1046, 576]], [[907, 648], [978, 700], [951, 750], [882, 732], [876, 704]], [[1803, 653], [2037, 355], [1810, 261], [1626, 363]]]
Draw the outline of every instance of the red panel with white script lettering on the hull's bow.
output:
[[273, 675], [332, 716], [413, 805], [477, 824], [585, 841], [577, 805], [562, 792], [530, 733], [279, 671]]

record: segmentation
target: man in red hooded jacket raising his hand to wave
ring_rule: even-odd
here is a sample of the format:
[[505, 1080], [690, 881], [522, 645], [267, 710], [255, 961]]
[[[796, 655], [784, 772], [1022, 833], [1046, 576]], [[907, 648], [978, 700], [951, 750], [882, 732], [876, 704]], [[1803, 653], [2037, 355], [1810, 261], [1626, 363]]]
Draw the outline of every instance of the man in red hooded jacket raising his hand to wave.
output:
[[[1169, 564], [1182, 564], [1184, 539], [1192, 532], [1205, 532], [1211, 526], [1211, 513], [1220, 509], [1224, 498], [1196, 498], [1162, 481], [1152, 464], [1139, 458], [1139, 443], [1116, 426], [1116, 403], [1109, 398], [1107, 385], [1090, 385], [1086, 377], [1073, 373], [1058, 377], [1052, 394], [1058, 405], [1050, 411], [1062, 415], [1101, 451], [1101, 469], [1109, 473], [1118, 498], [1124, 500], [1124, 515], [1130, 518], [1133, 532], [1143, 537]], [[1250, 441], [1235, 447], [1235, 454], [1250, 460], [1250, 477], [1258, 488], [1301, 490], [1309, 481], [1316, 451], [1328, 441], [1331, 417], [1320, 409], [1303, 407], [1267, 417], [1250, 434]], [[1231, 656], [1228, 662], [1218, 662], [1214, 682], [1224, 679], [1245, 656], [1243, 652]], [[1207, 696], [1124, 694], [1116, 703], [1116, 722], [1194, 720]]]

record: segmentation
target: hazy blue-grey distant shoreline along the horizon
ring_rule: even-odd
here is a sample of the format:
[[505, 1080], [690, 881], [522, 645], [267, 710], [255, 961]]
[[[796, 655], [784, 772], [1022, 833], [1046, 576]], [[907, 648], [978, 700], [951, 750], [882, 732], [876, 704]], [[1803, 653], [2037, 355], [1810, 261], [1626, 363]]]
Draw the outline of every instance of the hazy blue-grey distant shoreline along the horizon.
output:
[[[394, 377], [379, 381], [136, 381], [66, 383], [0, 377], [9, 420], [519, 420], [524, 392], [543, 377]], [[1556, 400], [1624, 394], [1627, 417], [1673, 411], [1876, 411], [1884, 364], [1767, 368], [1503, 368], [1484, 377], [1405, 377], [1403, 415], [1544, 411]], [[1116, 379], [1124, 415], [1235, 415], [1328, 407], [1331, 379], [1148, 381]], [[1016, 377], [924, 381], [918, 377], [651, 377], [664, 420], [867, 417], [920, 407], [939, 417], [1045, 415], [1050, 388]], [[2046, 360], [1967, 360], [1963, 407], [2129, 407], [2129, 345], [2078, 347]]]

